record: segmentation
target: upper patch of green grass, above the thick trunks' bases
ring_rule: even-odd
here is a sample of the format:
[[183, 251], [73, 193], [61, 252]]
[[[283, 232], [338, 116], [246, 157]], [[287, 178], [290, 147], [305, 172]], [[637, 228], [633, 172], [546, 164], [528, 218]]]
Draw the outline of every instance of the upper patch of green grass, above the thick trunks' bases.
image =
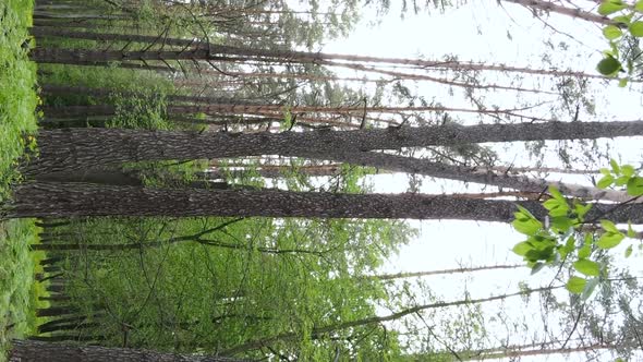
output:
[[36, 64], [28, 61], [25, 45], [32, 12], [32, 1], [0, 1], [0, 201], [19, 178], [15, 165], [25, 147], [34, 147], [33, 138], [24, 137], [37, 128]]

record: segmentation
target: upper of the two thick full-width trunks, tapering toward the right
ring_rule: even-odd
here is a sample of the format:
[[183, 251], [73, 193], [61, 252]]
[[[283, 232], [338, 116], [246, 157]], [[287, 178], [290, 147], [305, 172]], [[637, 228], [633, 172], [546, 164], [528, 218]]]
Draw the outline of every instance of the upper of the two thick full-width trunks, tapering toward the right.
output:
[[302, 156], [432, 145], [575, 140], [643, 134], [643, 121], [547, 122], [388, 128], [353, 131], [314, 131], [234, 134], [219, 132], [65, 129], [41, 131], [40, 157], [32, 170], [51, 173], [141, 160], [187, 160], [241, 156]]

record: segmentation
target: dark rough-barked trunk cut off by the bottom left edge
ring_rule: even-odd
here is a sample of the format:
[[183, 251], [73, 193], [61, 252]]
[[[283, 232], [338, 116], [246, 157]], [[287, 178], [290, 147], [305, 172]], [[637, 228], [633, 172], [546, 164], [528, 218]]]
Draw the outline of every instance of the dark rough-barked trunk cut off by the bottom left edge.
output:
[[10, 362], [234, 362], [221, 357], [161, 353], [149, 350], [13, 340]]

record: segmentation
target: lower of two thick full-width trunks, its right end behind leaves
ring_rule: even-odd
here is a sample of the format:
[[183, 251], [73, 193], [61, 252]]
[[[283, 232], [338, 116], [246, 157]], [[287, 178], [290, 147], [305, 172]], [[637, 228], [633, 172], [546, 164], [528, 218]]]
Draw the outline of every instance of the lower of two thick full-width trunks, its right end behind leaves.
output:
[[[509, 222], [514, 202], [422, 194], [209, 191], [143, 189], [87, 183], [24, 183], [8, 217], [75, 216], [265, 216], [322, 218], [460, 219]], [[537, 202], [518, 204], [544, 219]], [[615, 222], [643, 222], [643, 204], [594, 204], [587, 219], [609, 213]]]

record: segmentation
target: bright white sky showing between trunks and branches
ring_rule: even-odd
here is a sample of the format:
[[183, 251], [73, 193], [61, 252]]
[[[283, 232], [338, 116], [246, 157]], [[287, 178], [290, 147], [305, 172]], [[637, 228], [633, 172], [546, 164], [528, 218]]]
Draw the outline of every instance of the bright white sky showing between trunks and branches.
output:
[[[577, 3], [579, 3], [577, 1]], [[584, 2], [589, 4], [589, 2]], [[393, 10], [384, 17], [379, 25], [372, 26], [373, 11], [365, 10], [364, 22], [356, 26], [345, 39], [329, 41], [323, 47], [325, 52], [369, 55], [379, 57], [422, 57], [425, 59], [440, 59], [445, 55], [458, 55], [461, 60], [473, 60], [492, 63], [507, 63], [531, 68], [549, 68], [543, 63], [543, 55], [548, 53], [550, 61], [561, 69], [568, 65], [574, 70], [596, 74], [595, 64], [600, 59], [600, 50], [606, 48], [600, 28], [595, 24], [570, 20], [569, 17], [551, 15], [547, 20], [558, 31], [573, 35], [580, 41], [569, 36], [553, 34], [543, 22], [534, 17], [520, 5], [502, 2], [498, 5], [496, 0], [475, 0], [459, 8], [447, 8], [444, 13], [432, 11], [430, 14], [407, 15], [401, 20]], [[544, 40], [550, 39], [554, 51]], [[560, 41], [567, 44], [567, 50], [561, 50]], [[350, 71], [337, 70], [338, 73], [354, 75]], [[497, 83], [507, 77], [498, 75], [489, 80]], [[546, 81], [525, 80], [524, 85], [533, 82], [533, 86], [543, 86]], [[545, 83], [543, 83], [545, 82]], [[639, 87], [640, 90], [640, 87]], [[438, 99], [447, 106], [469, 106], [466, 101], [456, 93], [450, 95], [444, 86], [421, 85], [418, 94], [429, 99]], [[618, 88], [616, 85], [605, 85], [595, 82], [592, 87], [596, 98], [596, 117], [592, 120], [634, 120], [640, 117], [643, 99], [641, 92], [630, 88]], [[513, 96], [497, 92], [486, 95], [486, 99], [494, 104], [515, 104]], [[530, 96], [523, 97], [523, 101], [537, 99]], [[547, 112], [539, 109], [538, 112]], [[590, 116], [582, 114], [587, 118]], [[466, 122], [466, 117], [463, 117]], [[477, 119], [470, 119], [478, 122]], [[611, 156], [622, 162], [641, 165], [641, 137], [632, 140], [620, 138], [617, 143], [602, 141], [603, 146], [614, 147]], [[548, 167], [560, 166], [555, 155], [554, 143], [547, 143], [548, 149], [545, 156], [545, 165]], [[525, 156], [524, 146], [521, 143], [512, 145], [490, 145], [498, 150], [501, 159], [508, 165], [529, 166], [533, 160]], [[598, 165], [597, 167], [606, 167]], [[578, 165], [579, 168], [584, 166]], [[548, 176], [551, 180], [580, 182], [587, 184], [586, 177], [566, 177], [561, 174]], [[371, 179], [376, 192], [404, 192], [408, 183], [405, 176], [381, 174]], [[448, 192], [478, 192], [476, 185], [465, 188], [462, 183], [425, 179], [424, 193]], [[495, 191], [487, 188], [486, 191]], [[509, 225], [489, 224], [476, 221], [428, 220], [410, 221], [421, 232], [418, 238], [409, 245], [403, 246], [397, 257], [393, 257], [384, 267], [385, 273], [420, 272], [454, 268], [459, 266], [483, 266], [496, 264], [519, 264], [521, 258], [511, 252], [511, 248], [522, 241], [522, 237]], [[624, 246], [623, 246], [624, 249]], [[622, 255], [622, 250], [615, 251]], [[642, 276], [640, 255], [628, 262], [633, 274]], [[619, 263], [626, 263], [619, 261]], [[432, 290], [441, 295], [445, 301], [462, 299], [466, 291], [471, 298], [484, 298], [492, 294], [510, 293], [519, 290], [519, 282], [526, 281], [530, 287], [547, 285], [551, 280], [553, 273], [542, 272], [537, 276], [530, 276], [526, 268], [511, 272], [476, 273], [470, 276], [429, 277], [427, 282]], [[562, 299], [565, 292], [558, 293]], [[538, 299], [533, 298], [532, 307], [538, 307]], [[538, 333], [543, 329], [539, 315], [525, 315], [524, 304], [520, 299], [508, 301], [504, 305], [495, 303], [485, 304], [487, 319], [505, 309], [508, 313], [520, 316], [519, 322], [530, 324], [530, 331]], [[385, 313], [385, 311], [383, 311]], [[489, 323], [494, 338], [502, 339], [511, 333], [502, 330], [499, 324]], [[529, 342], [531, 336], [515, 335], [511, 342]], [[492, 341], [497, 341], [492, 339]], [[496, 343], [497, 345], [497, 343]], [[599, 361], [612, 361], [609, 354], [602, 354]], [[522, 361], [585, 361], [584, 355], [572, 354], [569, 359], [561, 355], [523, 358]]]

